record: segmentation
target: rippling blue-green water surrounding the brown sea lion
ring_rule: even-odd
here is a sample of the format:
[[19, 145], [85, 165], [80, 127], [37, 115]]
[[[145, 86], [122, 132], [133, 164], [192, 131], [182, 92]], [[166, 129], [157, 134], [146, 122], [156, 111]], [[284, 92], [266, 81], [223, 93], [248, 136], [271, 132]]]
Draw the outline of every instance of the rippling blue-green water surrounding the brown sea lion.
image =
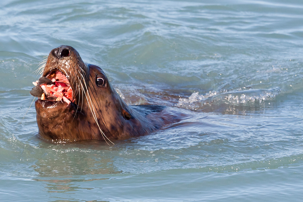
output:
[[[302, 39], [299, 0], [2, 0], [0, 201], [301, 201]], [[59, 45], [127, 104], [187, 118], [110, 146], [41, 140], [28, 92]]]

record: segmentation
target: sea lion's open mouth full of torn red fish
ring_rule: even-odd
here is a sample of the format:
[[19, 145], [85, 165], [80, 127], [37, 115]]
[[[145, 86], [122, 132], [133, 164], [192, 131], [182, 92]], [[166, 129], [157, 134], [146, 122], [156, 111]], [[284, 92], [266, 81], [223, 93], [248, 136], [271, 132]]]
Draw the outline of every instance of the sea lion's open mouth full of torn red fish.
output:
[[38, 81], [33, 82], [34, 88], [29, 92], [32, 96], [42, 100], [74, 103], [72, 87], [66, 76], [58, 69], [54, 69]]

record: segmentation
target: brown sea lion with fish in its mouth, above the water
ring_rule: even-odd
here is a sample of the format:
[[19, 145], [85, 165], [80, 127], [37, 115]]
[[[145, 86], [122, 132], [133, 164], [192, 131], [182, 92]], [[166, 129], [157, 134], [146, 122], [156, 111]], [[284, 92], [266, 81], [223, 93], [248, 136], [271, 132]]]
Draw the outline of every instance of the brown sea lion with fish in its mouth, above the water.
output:
[[38, 130], [46, 140], [112, 142], [148, 134], [171, 123], [165, 116], [150, 116], [163, 107], [148, 106], [140, 112], [127, 106], [103, 70], [85, 64], [71, 46], [53, 49], [42, 77], [33, 84], [30, 93], [38, 97]]

